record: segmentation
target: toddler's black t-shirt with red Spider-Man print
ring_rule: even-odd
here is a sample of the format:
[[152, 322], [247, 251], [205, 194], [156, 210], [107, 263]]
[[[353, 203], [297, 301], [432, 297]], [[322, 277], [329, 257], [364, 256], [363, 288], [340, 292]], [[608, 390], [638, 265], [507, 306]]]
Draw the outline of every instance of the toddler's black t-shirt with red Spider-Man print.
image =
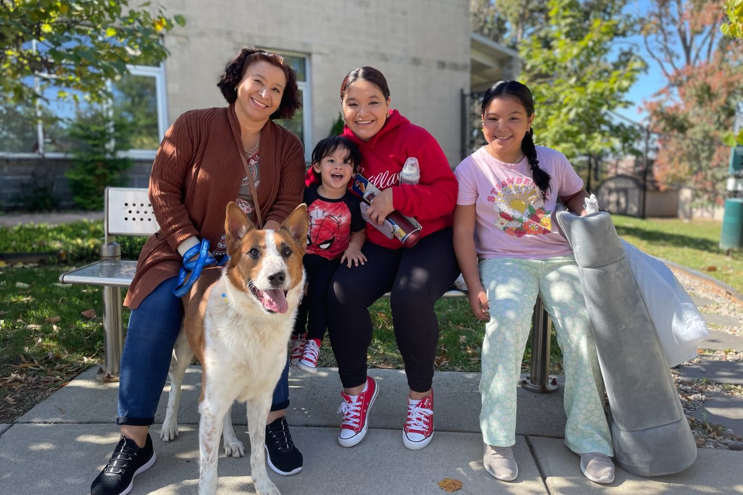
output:
[[340, 258], [351, 241], [351, 232], [362, 231], [366, 226], [361, 217], [361, 198], [346, 191], [343, 197], [331, 200], [320, 196], [317, 186], [305, 189], [307, 253], [328, 260]]

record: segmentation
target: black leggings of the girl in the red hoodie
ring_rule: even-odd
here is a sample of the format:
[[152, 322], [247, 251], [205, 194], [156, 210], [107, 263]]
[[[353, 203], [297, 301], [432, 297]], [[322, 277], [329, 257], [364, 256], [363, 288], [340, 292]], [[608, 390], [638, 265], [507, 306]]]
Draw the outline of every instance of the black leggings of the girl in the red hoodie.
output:
[[433, 381], [438, 320], [433, 305], [459, 275], [452, 229], [427, 235], [410, 249], [387, 249], [367, 241], [366, 264], [341, 265], [328, 289], [328, 332], [343, 387], [366, 382], [371, 344], [369, 306], [392, 292], [392, 324], [410, 390], [426, 392]]

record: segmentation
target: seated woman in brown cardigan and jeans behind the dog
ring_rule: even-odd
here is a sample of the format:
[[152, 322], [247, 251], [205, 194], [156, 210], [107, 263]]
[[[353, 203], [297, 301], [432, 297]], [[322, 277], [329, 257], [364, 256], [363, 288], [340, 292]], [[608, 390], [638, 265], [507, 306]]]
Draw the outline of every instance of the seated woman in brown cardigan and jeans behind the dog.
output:
[[[185, 252], [208, 239], [215, 258], [225, 254], [224, 212], [230, 201], [264, 229], [277, 229], [302, 202], [302, 142], [272, 122], [291, 118], [301, 106], [291, 66], [276, 53], [243, 49], [227, 64], [218, 87], [230, 105], [178, 117], [152, 165], [149, 197], [160, 231], [144, 245], [124, 301], [132, 315], [119, 382], [122, 436], [94, 480], [92, 495], [128, 491], [134, 475], [155, 462], [148, 429], [181, 328], [183, 309], [173, 289]], [[268, 464], [283, 475], [302, 469], [285, 418], [288, 404], [286, 368], [266, 427]]]

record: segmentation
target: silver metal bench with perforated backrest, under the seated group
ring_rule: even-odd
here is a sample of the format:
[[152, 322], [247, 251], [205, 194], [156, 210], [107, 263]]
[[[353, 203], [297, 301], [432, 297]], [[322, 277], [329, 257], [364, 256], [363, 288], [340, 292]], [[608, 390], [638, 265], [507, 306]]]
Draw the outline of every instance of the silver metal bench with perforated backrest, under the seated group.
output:
[[[160, 229], [152, 212], [147, 189], [106, 188], [101, 260], [59, 275], [62, 283], [103, 286], [103, 348], [105, 361], [96, 378], [118, 381], [124, 344], [121, 288], [129, 287], [137, 270], [136, 260], [122, 260], [117, 235], [149, 236]], [[389, 292], [383, 297], [389, 298]], [[452, 289], [444, 298], [467, 298], [467, 292]], [[554, 392], [557, 380], [549, 376], [550, 317], [541, 299], [532, 317], [531, 375], [522, 387], [532, 392]]]

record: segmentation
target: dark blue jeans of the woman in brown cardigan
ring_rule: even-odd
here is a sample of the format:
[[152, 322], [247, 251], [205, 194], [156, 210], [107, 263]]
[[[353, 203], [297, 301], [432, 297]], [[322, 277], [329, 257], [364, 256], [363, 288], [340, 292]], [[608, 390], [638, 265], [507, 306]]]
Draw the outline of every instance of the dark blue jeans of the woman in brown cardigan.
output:
[[[173, 295], [177, 284], [177, 277], [163, 281], [137, 309], [132, 309], [121, 356], [117, 424], [149, 426], [155, 422], [155, 411], [183, 319], [181, 299]], [[271, 410], [282, 410], [288, 406], [287, 359], [279, 383], [273, 390]]]

